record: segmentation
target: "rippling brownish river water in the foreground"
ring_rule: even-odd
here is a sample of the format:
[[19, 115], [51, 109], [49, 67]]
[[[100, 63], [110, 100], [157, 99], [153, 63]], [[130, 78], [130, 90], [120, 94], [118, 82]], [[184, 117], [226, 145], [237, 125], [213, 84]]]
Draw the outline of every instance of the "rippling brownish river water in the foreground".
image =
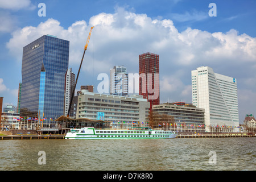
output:
[[[210, 151], [216, 164], [209, 164]], [[251, 171], [255, 156], [255, 138], [0, 141], [0, 171]]]

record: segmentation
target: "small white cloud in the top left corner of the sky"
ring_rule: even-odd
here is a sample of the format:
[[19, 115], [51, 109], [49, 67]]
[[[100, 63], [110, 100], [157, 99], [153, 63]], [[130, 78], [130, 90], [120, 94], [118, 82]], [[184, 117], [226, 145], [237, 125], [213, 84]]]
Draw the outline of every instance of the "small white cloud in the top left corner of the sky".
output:
[[20, 10], [20, 9], [28, 9], [34, 10], [36, 8], [35, 5], [32, 5], [30, 0], [0, 0], [0, 8], [7, 10]]

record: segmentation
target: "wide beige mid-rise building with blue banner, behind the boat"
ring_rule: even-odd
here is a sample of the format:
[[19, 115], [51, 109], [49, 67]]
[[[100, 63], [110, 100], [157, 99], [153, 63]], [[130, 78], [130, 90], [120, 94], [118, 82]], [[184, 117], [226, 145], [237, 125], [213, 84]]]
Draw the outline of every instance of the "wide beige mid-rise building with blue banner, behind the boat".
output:
[[77, 97], [76, 118], [110, 121], [112, 128], [146, 126], [150, 103], [143, 98], [83, 92]]

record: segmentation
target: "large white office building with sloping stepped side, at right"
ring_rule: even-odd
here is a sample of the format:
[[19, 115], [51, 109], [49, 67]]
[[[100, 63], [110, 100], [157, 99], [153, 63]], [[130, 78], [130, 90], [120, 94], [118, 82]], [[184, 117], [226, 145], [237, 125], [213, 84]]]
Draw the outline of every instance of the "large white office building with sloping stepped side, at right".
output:
[[193, 105], [205, 109], [206, 131], [236, 132], [239, 127], [237, 80], [210, 67], [191, 72]]

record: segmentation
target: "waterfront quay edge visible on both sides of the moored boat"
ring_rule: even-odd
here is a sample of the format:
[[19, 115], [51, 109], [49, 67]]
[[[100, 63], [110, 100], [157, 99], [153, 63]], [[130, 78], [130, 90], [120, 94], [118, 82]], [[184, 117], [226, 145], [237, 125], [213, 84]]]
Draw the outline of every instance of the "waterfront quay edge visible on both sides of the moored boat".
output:
[[[212, 133], [212, 134], [179, 134], [176, 138], [231, 138], [256, 137], [256, 133]], [[65, 139], [65, 135], [0, 135], [0, 140], [23, 139]]]

